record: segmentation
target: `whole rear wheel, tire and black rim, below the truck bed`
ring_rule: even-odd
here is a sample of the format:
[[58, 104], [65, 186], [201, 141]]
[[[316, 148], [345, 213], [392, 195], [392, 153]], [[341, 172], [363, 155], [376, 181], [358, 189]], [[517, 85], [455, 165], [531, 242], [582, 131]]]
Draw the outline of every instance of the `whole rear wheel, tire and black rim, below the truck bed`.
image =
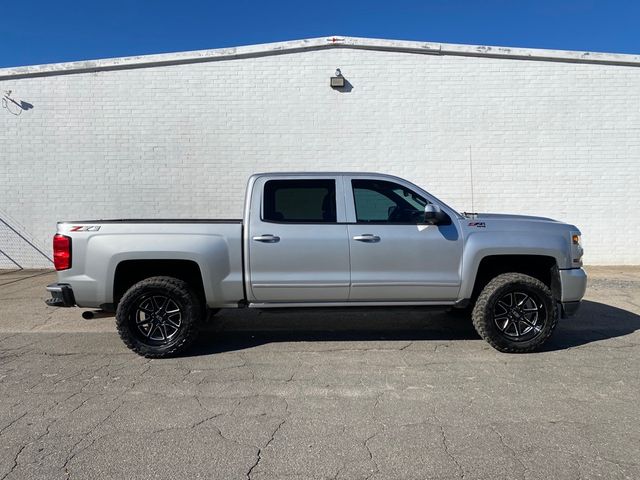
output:
[[151, 277], [124, 294], [116, 311], [116, 326], [125, 345], [137, 354], [165, 358], [189, 348], [203, 311], [198, 295], [185, 281]]

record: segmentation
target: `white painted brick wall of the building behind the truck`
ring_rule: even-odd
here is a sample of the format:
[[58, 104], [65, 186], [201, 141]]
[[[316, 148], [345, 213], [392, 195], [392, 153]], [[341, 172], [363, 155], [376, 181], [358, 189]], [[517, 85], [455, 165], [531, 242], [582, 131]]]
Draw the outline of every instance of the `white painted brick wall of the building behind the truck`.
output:
[[0, 217], [47, 252], [57, 220], [240, 217], [256, 171], [387, 172], [469, 211], [471, 152], [476, 211], [575, 223], [587, 264], [640, 264], [640, 66], [339, 48], [6, 90], [33, 108], [0, 108]]

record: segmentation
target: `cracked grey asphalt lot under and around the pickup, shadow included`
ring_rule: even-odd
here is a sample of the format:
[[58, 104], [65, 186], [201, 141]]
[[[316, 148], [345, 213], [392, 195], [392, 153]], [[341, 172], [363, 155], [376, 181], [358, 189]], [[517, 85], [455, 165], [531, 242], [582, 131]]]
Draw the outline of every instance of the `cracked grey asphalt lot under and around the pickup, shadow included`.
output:
[[0, 274], [0, 480], [638, 479], [640, 267], [593, 267], [546, 350], [422, 309], [229, 311], [187, 356]]

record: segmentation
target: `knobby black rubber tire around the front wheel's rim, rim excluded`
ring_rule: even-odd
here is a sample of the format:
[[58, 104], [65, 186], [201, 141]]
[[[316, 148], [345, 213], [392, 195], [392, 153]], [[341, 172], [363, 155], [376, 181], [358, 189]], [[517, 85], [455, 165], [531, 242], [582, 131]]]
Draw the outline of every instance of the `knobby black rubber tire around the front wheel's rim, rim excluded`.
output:
[[[518, 340], [501, 331], [494, 321], [496, 305], [509, 293], [523, 292], [530, 295], [545, 315], [539, 331], [534, 336]], [[513, 297], [512, 297], [513, 298]], [[496, 350], [505, 353], [527, 353], [539, 349], [551, 336], [558, 323], [555, 300], [549, 288], [540, 280], [522, 273], [503, 273], [492, 279], [480, 292], [471, 315], [478, 334]], [[518, 326], [516, 325], [516, 332]], [[506, 329], [505, 329], [506, 330]], [[536, 333], [537, 332], [537, 333]]]

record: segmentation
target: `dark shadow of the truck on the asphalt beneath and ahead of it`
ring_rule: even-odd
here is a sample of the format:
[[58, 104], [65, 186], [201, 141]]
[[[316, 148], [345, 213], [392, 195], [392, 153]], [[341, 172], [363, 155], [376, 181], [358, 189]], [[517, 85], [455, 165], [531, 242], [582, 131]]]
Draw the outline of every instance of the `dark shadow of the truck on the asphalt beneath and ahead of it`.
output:
[[[640, 329], [640, 315], [584, 301], [579, 313], [561, 319], [543, 351], [565, 350], [621, 337]], [[186, 356], [244, 350], [279, 342], [479, 340], [471, 320], [445, 311], [402, 309], [228, 310], [203, 328]]]

